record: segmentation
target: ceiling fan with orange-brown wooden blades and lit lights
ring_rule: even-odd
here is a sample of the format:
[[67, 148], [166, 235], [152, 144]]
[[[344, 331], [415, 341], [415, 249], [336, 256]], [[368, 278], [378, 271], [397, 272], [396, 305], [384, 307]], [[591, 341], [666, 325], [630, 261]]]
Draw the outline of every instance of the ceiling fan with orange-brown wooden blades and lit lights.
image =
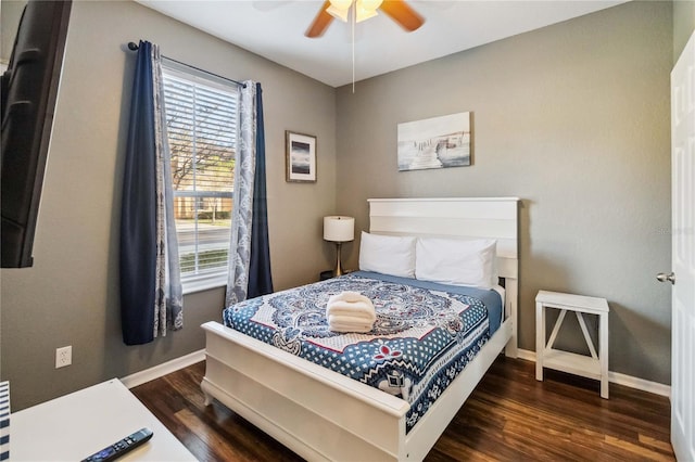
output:
[[381, 10], [409, 33], [425, 23], [422, 16], [404, 0], [326, 0], [304, 35], [309, 38], [323, 36], [333, 18], [348, 22], [351, 8], [355, 9], [356, 23], [376, 16], [377, 10]]

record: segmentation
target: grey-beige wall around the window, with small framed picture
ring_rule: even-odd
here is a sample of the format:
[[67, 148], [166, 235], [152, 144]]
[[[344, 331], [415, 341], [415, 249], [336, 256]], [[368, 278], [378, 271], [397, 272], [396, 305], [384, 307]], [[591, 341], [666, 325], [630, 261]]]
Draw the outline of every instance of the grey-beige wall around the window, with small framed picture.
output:
[[[3, 1], [3, 31], [8, 10]], [[223, 290], [191, 294], [182, 331], [138, 347], [121, 338], [118, 220], [135, 60], [124, 50], [140, 38], [169, 57], [262, 82], [276, 288], [317, 280], [330, 267], [331, 247], [320, 233], [321, 217], [336, 213], [334, 89], [138, 3], [76, 1], [35, 265], [0, 273], [0, 367], [2, 380], [11, 382], [13, 410], [201, 349], [199, 325], [220, 318]], [[285, 181], [286, 129], [318, 137], [317, 183]], [[55, 348], [64, 345], [73, 346], [73, 365], [56, 370]]]

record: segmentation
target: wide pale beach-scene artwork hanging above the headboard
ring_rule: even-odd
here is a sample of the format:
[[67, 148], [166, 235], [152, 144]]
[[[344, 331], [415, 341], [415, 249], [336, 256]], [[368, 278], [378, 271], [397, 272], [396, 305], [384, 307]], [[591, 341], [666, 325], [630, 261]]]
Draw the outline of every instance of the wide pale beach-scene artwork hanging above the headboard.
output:
[[471, 113], [399, 124], [399, 171], [469, 166]]

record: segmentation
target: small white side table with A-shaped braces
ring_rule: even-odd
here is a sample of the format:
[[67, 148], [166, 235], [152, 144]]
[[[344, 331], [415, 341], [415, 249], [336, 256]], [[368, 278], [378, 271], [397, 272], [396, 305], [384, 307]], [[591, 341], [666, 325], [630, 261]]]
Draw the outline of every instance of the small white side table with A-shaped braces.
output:
[[[545, 311], [556, 308], [560, 313], [545, 343]], [[553, 348], [567, 311], [574, 311], [591, 356]], [[589, 336], [584, 313], [598, 316], [598, 354]], [[540, 291], [535, 296], [535, 380], [543, 380], [543, 368], [555, 369], [601, 381], [601, 397], [608, 399], [608, 303], [605, 298]]]

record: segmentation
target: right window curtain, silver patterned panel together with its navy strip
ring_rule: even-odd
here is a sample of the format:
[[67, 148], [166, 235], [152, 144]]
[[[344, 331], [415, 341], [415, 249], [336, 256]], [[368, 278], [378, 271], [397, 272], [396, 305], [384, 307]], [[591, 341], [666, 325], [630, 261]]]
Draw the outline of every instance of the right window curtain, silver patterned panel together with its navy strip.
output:
[[[273, 292], [261, 85], [251, 80], [243, 82], [239, 100], [240, 133], [235, 163], [235, 196], [226, 306], [245, 300], [250, 293], [257, 295], [257, 283], [261, 279], [258, 274], [263, 274], [263, 290], [267, 291], [264, 293]], [[254, 227], [257, 227], [255, 233]], [[258, 236], [264, 236], [264, 240]], [[258, 248], [254, 249], [253, 247], [256, 246]], [[256, 260], [253, 267], [254, 273], [251, 273], [252, 255]], [[257, 261], [258, 255], [263, 259], [261, 265]]]

